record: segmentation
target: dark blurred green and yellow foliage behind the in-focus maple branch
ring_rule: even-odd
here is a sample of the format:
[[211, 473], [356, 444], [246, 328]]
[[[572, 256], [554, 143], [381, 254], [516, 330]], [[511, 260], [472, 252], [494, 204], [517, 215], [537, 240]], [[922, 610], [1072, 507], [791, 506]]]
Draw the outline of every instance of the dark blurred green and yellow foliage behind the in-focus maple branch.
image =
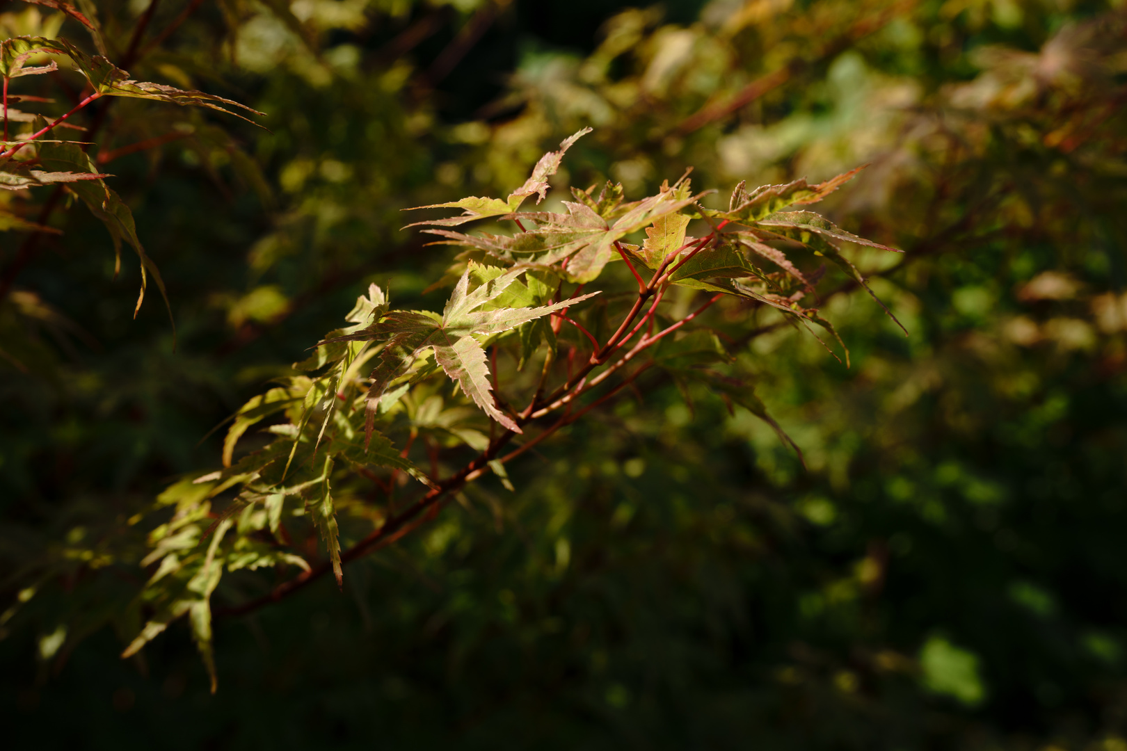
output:
[[[145, 8], [98, 3], [112, 57]], [[81, 32], [0, 14], [6, 36]], [[90, 108], [175, 351], [154, 301], [130, 320], [136, 270], [113, 279], [81, 208], [0, 306], [6, 737], [1125, 748], [1125, 37], [1121, 3], [1084, 0], [156, 6], [131, 72], [243, 101], [270, 133]], [[718, 325], [808, 468], [749, 412], [662, 383], [514, 463], [515, 492], [483, 479], [352, 564], [343, 594], [322, 580], [218, 620], [216, 696], [183, 625], [118, 660], [147, 578], [122, 530], [216, 465], [222, 431], [201, 438], [370, 283], [441, 305], [424, 289], [449, 256], [400, 209], [505, 195], [587, 125], [560, 186], [871, 162], [826, 205], [907, 251], [853, 257], [911, 337], [832, 274], [850, 368], [767, 310]], [[5, 233], [6, 269], [24, 236]], [[230, 576], [216, 602], [264, 581]]]

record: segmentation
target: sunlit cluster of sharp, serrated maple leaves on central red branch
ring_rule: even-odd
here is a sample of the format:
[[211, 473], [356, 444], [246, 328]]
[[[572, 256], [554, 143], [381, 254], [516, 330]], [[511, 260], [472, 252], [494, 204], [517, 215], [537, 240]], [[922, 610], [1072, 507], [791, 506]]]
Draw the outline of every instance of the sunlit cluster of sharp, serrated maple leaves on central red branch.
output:
[[[152, 552], [142, 564], [159, 565], [139, 600], [153, 607], [156, 614], [126, 649], [125, 656], [135, 654], [172, 619], [189, 614], [214, 690], [210, 598], [223, 571], [296, 562], [303, 573], [275, 589], [265, 602], [329, 567], [341, 584], [335, 500], [339, 492], [334, 486], [345, 477], [362, 475], [383, 486], [388, 494], [383, 502], [350, 499], [352, 512], [367, 516], [373, 526], [344, 554], [352, 558], [376, 544], [398, 539], [412, 528], [407, 526], [412, 517], [424, 509], [436, 509], [446, 494], [461, 491], [487, 467], [507, 480], [506, 462], [605, 402], [650, 366], [659, 365], [682, 383], [709, 383], [730, 401], [749, 405], [778, 429], [749, 383], [708, 367], [722, 366], [731, 358], [699, 316], [728, 296], [772, 305], [796, 321], [815, 321], [832, 331], [816, 309], [800, 304], [807, 292], [814, 292], [808, 276], [815, 276], [809, 271], [804, 275], [800, 266], [810, 266], [815, 256], [828, 257], [864, 284], [834, 241], [894, 249], [844, 232], [813, 212], [780, 209], [817, 203], [857, 170], [816, 186], [797, 180], [748, 191], [740, 184], [733, 191], [728, 211], [701, 206], [702, 195], [692, 194], [685, 177], [673, 186], [664, 184], [656, 195], [639, 200], [627, 202], [621, 185], [607, 184], [597, 196], [594, 188], [573, 188], [576, 200], [565, 202], [566, 214], [521, 212], [529, 196], [547, 195], [548, 179], [559, 169], [565, 152], [585, 133], [576, 133], [560, 144], [559, 151], [541, 158], [532, 176], [506, 200], [471, 197], [421, 207], [461, 208], [463, 214], [420, 224], [447, 227], [497, 218], [515, 223], [520, 231], [469, 235], [446, 229], [427, 230], [442, 236], [442, 243], [465, 248], [452, 269], [458, 280], [442, 314], [391, 309], [384, 292], [373, 284], [347, 318], [353, 325], [329, 332], [312, 357], [294, 365], [309, 375], [287, 378], [239, 410], [224, 441], [225, 468], [181, 481], [161, 495], [158, 506], [171, 506], [175, 511], [168, 524], [150, 535]], [[686, 235], [693, 220], [702, 222], [709, 232], [700, 238]], [[647, 236], [641, 244], [625, 242], [642, 230]], [[637, 280], [636, 298], [632, 303], [622, 299], [583, 306], [598, 292], [580, 292], [602, 276], [615, 254]], [[648, 283], [636, 270], [635, 261], [651, 269]], [[798, 285], [801, 288], [795, 290]], [[677, 286], [712, 296], [695, 312], [671, 321], [659, 306], [666, 293]], [[550, 315], [556, 320], [545, 324]], [[614, 333], [601, 342], [598, 334], [613, 327], [618, 315], [622, 319]], [[655, 332], [658, 321], [665, 325]], [[558, 357], [559, 322], [570, 323], [589, 341], [589, 356], [578, 370], [573, 365], [583, 351], [580, 347], [569, 343], [567, 359]], [[632, 347], [615, 357], [636, 336]], [[516, 411], [512, 404], [529, 399], [529, 384], [517, 382], [505, 393], [495, 392], [486, 352], [490, 347], [495, 361], [498, 352], [508, 352], [522, 367], [532, 363], [540, 366], [540, 378], [525, 409]], [[650, 348], [650, 358], [637, 357]], [[374, 367], [366, 378], [361, 377], [370, 361]], [[615, 374], [619, 383], [609, 394], [582, 405], [582, 394]], [[496, 435], [490, 423], [491, 437], [487, 437], [479, 413], [468, 413], [456, 401], [451, 403], [434, 394], [434, 381], [442, 375], [503, 431]], [[421, 401], [419, 393], [428, 394], [427, 399]], [[557, 419], [556, 412], [562, 412], [562, 417]], [[275, 414], [285, 417], [284, 422], [268, 429], [276, 438], [233, 463], [240, 437]], [[499, 449], [511, 438], [524, 432], [522, 426], [549, 415], [554, 424], [542, 424], [534, 438], [499, 456]], [[427, 428], [436, 427], [446, 438], [444, 452], [456, 454], [463, 447], [480, 452], [447, 477], [427, 476], [406, 458], [410, 441], [420, 431], [426, 435]], [[392, 431], [409, 436], [402, 450], [388, 438]], [[392, 474], [380, 477], [379, 473], [387, 471]], [[399, 513], [390, 498], [397, 473], [429, 488]], [[237, 493], [233, 500], [205, 529], [207, 519], [214, 516], [214, 499], [232, 489]], [[295, 520], [312, 522], [328, 555], [326, 565], [314, 570], [299, 556], [286, 531], [286, 525]], [[233, 607], [248, 611], [260, 604]]]

